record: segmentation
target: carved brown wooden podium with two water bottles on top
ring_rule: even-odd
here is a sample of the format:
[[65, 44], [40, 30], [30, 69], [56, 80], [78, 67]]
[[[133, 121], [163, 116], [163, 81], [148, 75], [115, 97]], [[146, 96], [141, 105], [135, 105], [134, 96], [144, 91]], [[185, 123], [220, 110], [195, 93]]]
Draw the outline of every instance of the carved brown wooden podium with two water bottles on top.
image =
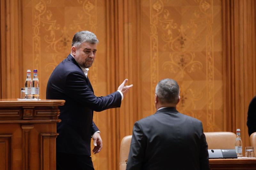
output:
[[56, 169], [58, 106], [64, 103], [0, 99], [0, 170]]

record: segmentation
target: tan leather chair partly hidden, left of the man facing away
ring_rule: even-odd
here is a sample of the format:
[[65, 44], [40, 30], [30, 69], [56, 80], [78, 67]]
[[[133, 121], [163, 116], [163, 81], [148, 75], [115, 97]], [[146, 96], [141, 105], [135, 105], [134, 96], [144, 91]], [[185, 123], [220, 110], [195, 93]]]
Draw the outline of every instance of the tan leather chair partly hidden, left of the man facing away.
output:
[[128, 155], [130, 151], [132, 135], [125, 136], [121, 142], [120, 146], [120, 170], [126, 169], [126, 162], [128, 160]]

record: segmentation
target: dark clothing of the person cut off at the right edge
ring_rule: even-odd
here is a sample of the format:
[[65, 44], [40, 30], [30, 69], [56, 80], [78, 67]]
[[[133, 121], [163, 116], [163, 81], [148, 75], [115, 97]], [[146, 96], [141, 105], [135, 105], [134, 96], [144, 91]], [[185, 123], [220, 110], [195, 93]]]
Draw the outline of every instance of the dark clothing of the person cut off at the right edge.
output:
[[256, 96], [250, 102], [247, 114], [248, 133], [251, 136], [253, 132], [256, 132]]

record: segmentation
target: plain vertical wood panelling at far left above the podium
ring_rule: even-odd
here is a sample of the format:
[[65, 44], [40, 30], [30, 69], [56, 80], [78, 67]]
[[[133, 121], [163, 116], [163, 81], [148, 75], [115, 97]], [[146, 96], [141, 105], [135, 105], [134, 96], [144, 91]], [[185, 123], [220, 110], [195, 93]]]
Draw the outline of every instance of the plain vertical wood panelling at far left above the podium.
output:
[[[3, 0], [1, 7], [1, 98], [18, 98], [23, 81], [22, 1]], [[21, 86], [22, 85], [22, 86]]]

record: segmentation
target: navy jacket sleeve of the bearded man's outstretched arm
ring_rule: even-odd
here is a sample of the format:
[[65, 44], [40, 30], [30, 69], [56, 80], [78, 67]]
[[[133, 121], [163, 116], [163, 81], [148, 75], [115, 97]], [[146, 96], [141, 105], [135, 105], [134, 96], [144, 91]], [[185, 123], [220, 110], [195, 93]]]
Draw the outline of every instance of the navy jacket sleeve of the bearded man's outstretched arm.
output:
[[76, 102], [87, 105], [96, 112], [121, 106], [122, 96], [119, 92], [114, 92], [104, 97], [97, 97], [88, 87], [84, 75], [81, 75], [79, 72], [70, 72], [66, 77], [65, 83], [65, 92], [69, 97]]

